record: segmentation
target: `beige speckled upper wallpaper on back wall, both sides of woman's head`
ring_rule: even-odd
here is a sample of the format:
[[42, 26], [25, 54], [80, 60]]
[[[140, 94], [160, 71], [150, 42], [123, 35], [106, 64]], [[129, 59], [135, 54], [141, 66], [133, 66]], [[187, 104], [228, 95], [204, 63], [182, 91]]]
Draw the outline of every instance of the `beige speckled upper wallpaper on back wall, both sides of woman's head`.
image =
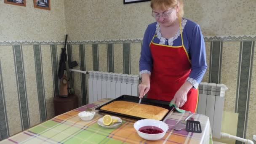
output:
[[[147, 25], [155, 21], [149, 2], [123, 5], [121, 0], [80, 0], [72, 4], [64, 1], [64, 5], [71, 40], [141, 39]], [[254, 5], [255, 0], [185, 0], [184, 17], [197, 22], [204, 36], [255, 35]]]

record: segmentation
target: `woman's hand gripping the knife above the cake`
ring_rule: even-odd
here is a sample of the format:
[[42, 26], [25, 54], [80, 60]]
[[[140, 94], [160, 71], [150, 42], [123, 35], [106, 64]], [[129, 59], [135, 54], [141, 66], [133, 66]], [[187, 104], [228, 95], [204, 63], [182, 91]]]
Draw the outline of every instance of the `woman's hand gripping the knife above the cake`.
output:
[[142, 82], [139, 84], [139, 98], [143, 98], [143, 96], [149, 91], [150, 82], [149, 82], [149, 74], [144, 73], [141, 75]]

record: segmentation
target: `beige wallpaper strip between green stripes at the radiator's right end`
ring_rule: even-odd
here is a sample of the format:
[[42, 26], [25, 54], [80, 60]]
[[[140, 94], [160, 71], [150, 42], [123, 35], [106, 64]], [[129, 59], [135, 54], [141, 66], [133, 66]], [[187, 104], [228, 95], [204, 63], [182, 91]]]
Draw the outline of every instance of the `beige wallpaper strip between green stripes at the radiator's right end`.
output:
[[225, 91], [224, 111], [235, 112], [237, 71], [240, 42], [224, 42], [222, 52], [221, 83], [229, 89]]

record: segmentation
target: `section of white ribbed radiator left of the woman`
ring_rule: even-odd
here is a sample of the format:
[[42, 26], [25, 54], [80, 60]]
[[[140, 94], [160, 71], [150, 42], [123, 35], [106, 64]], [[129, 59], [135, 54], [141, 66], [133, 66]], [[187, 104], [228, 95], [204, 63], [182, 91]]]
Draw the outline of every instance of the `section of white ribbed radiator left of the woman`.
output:
[[89, 71], [88, 84], [89, 103], [124, 94], [138, 96], [139, 75]]

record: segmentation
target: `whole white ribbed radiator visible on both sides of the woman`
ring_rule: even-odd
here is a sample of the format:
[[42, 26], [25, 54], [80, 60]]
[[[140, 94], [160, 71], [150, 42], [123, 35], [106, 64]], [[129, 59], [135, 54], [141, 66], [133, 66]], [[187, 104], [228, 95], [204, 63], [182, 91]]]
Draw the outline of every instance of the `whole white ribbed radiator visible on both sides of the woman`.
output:
[[[112, 72], [89, 71], [89, 103], [103, 98], [115, 99], [124, 94], [139, 96], [139, 75], [118, 74]], [[226, 85], [200, 83], [198, 114], [209, 117], [212, 136], [220, 138]]]

